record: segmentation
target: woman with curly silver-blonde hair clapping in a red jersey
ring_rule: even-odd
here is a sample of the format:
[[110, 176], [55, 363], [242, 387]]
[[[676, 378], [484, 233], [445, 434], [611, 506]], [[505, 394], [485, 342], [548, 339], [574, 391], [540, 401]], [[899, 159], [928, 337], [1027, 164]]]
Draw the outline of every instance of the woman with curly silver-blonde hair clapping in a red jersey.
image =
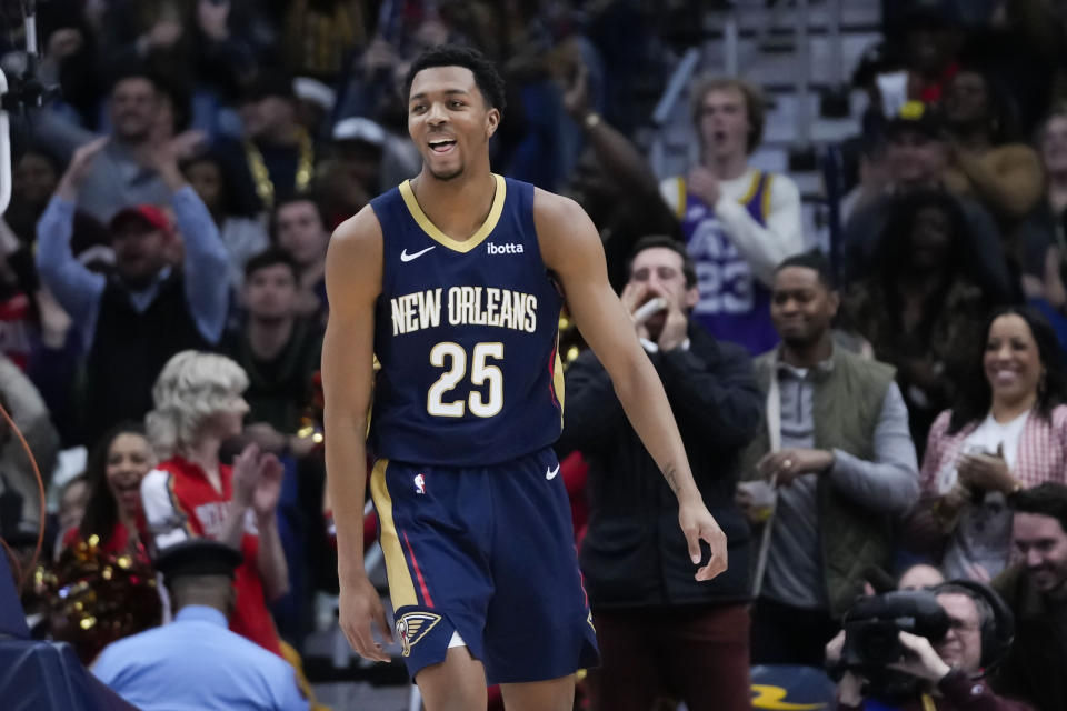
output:
[[181, 351], [167, 362], [147, 418], [163, 461], [141, 482], [141, 498], [158, 550], [208, 537], [243, 553], [230, 629], [281, 655], [267, 603], [289, 585], [276, 515], [282, 467], [253, 444], [232, 467], [219, 459], [222, 443], [241, 434], [247, 387], [245, 371], [223, 356]]

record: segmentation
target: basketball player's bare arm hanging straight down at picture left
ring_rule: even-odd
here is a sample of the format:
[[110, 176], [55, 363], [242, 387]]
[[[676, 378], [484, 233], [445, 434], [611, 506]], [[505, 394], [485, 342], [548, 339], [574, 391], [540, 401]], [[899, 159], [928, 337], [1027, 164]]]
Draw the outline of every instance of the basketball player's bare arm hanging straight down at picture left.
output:
[[363, 569], [367, 414], [373, 378], [375, 301], [381, 291], [381, 226], [368, 206], [333, 232], [326, 256], [329, 321], [322, 341], [327, 488], [337, 527], [340, 624], [361, 657], [389, 661], [375, 643], [389, 623]]

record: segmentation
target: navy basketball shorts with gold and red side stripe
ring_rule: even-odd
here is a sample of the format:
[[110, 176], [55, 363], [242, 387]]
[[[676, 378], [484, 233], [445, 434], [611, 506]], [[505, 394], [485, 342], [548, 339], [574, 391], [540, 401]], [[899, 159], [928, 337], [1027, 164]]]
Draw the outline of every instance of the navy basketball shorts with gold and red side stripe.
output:
[[379, 541], [412, 678], [461, 644], [490, 684], [597, 665], [558, 474], [550, 448], [492, 467], [375, 464]]

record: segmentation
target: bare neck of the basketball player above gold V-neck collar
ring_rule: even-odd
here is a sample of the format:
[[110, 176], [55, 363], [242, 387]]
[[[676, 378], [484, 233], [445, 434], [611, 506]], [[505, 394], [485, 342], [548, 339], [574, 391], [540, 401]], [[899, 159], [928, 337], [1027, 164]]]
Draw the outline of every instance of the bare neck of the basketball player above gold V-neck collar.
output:
[[411, 188], [430, 222], [458, 241], [482, 226], [497, 192], [488, 162], [485, 169], [470, 170], [452, 180], [439, 180], [423, 168], [411, 181]]

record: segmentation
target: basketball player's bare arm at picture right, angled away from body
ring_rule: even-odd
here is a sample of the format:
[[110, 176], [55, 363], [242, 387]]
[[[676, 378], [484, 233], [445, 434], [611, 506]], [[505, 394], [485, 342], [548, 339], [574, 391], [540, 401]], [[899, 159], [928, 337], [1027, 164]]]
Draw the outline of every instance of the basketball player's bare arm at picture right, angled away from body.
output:
[[578, 330], [611, 375], [627, 418], [678, 498], [678, 523], [694, 563], [701, 560], [701, 539], [711, 548], [696, 575], [710, 580], [726, 570], [726, 534], [692, 480], [659, 375], [608, 283], [600, 236], [576, 202], [542, 190], [534, 200], [534, 220], [545, 264], [559, 279]]

